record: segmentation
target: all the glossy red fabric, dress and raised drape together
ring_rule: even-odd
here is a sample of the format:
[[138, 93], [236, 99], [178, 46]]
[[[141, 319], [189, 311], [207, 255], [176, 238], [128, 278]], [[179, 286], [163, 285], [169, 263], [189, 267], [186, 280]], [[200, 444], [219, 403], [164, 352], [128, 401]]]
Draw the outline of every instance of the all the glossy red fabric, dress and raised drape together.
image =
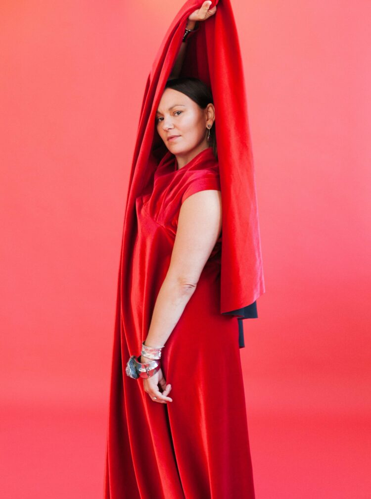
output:
[[[142, 102], [117, 288], [105, 499], [254, 498], [234, 316], [249, 316], [245, 307], [265, 290], [238, 37], [230, 1], [216, 3], [216, 14], [186, 41], [180, 76], [199, 78], [211, 89], [217, 160], [208, 147], [178, 170], [155, 130], [186, 19], [201, 1], [186, 1], [173, 20]], [[126, 376], [125, 366], [146, 338], [180, 206], [204, 189], [221, 191], [222, 238], [163, 349], [173, 402], [159, 404], [141, 380]]]

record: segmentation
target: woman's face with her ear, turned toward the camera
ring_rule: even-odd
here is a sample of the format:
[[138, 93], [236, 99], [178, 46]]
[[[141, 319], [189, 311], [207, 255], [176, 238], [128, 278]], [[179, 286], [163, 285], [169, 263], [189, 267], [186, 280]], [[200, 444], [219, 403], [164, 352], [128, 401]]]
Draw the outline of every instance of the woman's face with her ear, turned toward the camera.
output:
[[[201, 109], [187, 95], [166, 88], [156, 113], [157, 131], [170, 152], [182, 155], [208, 147], [206, 125], [214, 122], [214, 106]], [[177, 138], [169, 140], [172, 135]]]

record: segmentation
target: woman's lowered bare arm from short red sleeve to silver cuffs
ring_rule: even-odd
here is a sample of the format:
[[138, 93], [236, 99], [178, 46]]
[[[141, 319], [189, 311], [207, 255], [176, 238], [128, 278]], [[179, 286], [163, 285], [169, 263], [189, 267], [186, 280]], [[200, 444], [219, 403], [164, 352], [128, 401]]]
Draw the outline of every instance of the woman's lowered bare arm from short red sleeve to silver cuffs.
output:
[[[156, 299], [148, 346], [165, 345], [192, 296], [221, 232], [221, 193], [199, 191], [183, 203], [167, 275]], [[142, 356], [142, 362], [151, 359]]]

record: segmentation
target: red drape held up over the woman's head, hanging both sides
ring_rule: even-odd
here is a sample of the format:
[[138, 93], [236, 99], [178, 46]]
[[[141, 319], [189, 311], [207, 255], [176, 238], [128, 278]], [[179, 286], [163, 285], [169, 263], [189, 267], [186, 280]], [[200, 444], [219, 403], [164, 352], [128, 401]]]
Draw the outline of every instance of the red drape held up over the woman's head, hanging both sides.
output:
[[[182, 44], [187, 17], [201, 4], [202, 1], [188, 0], [179, 10], [147, 79], [129, 179], [118, 306], [128, 294], [126, 271], [137, 234], [135, 200], [148, 192], [156, 168], [168, 153], [155, 127], [156, 111]], [[230, 0], [214, 0], [210, 8], [214, 5], [216, 13], [200, 21], [185, 42], [185, 62], [179, 77], [202, 80], [209, 86], [215, 106], [213, 126], [222, 199], [219, 310], [240, 319], [253, 318], [257, 317], [255, 300], [265, 292], [265, 287], [245, 83]], [[123, 307], [121, 315], [122, 310]], [[128, 346], [131, 353], [138, 348], [134, 338]]]

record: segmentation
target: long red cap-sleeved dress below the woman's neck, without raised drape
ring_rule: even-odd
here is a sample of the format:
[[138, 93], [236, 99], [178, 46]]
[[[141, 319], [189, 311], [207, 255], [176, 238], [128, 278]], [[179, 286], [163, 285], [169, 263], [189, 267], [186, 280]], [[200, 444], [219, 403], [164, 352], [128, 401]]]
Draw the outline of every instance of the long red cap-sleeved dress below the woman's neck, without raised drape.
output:
[[[255, 497], [238, 323], [219, 309], [221, 236], [163, 348], [162, 370], [173, 402], [152, 401], [141, 379], [125, 375], [126, 362], [140, 355], [149, 330], [181, 205], [206, 189], [220, 190], [210, 147], [179, 170], [168, 152], [151, 192], [136, 198], [138, 234], [130, 286], [122, 297], [130, 306], [117, 317], [114, 342], [106, 499]], [[120, 339], [121, 320], [126, 341]]]

